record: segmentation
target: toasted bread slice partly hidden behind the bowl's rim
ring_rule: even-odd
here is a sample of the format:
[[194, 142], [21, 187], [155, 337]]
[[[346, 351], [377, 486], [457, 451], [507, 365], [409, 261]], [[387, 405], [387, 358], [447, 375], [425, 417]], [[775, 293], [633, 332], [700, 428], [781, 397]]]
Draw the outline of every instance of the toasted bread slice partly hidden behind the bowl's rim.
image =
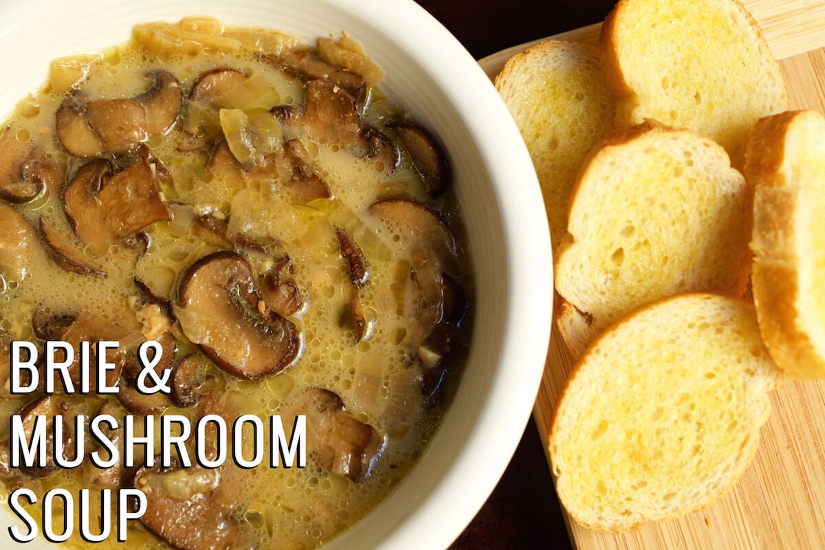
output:
[[615, 98], [594, 46], [547, 40], [516, 54], [496, 78], [539, 178], [555, 250], [567, 229], [573, 181], [613, 128]]

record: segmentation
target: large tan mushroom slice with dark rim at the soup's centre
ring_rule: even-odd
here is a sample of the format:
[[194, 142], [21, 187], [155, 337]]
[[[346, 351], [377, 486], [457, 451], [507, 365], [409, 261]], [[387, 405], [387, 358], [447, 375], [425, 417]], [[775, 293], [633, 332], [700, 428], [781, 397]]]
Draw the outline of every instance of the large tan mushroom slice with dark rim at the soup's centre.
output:
[[260, 303], [249, 262], [218, 251], [181, 274], [172, 313], [186, 338], [220, 369], [259, 378], [292, 364], [301, 349], [298, 328]]

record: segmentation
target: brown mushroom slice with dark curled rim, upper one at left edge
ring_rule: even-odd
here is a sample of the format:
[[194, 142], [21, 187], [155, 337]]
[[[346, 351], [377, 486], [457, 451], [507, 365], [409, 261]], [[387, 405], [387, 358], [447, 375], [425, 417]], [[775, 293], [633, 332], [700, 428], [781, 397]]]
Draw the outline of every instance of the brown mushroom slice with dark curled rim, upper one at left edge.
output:
[[21, 142], [11, 128], [0, 136], [0, 199], [12, 204], [35, 200], [45, 190], [56, 192], [63, 177], [31, 142]]

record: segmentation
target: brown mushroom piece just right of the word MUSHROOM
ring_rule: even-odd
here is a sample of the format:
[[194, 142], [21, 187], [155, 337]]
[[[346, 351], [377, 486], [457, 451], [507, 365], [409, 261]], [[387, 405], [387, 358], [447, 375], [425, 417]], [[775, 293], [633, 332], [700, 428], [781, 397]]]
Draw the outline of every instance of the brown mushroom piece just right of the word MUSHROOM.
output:
[[310, 388], [293, 407], [296, 414], [306, 415], [307, 449], [322, 468], [353, 482], [370, 476], [386, 442], [371, 425], [351, 416], [341, 397]]

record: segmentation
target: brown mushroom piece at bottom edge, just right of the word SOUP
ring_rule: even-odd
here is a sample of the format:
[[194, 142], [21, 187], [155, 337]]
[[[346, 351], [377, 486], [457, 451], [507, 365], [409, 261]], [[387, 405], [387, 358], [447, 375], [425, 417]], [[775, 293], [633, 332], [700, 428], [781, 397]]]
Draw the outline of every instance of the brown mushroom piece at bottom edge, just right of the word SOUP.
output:
[[252, 548], [232, 514], [233, 499], [222, 491], [220, 470], [162, 468], [159, 457], [155, 463], [134, 475], [134, 487], [146, 496], [140, 522], [147, 529], [182, 550]]

